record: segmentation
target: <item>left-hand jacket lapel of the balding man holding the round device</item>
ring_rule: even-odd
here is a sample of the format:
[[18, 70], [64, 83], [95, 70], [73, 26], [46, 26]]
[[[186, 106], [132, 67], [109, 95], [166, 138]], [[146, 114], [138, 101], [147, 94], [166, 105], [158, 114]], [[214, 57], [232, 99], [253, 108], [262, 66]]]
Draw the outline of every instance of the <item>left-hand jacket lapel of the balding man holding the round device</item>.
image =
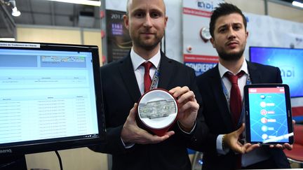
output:
[[137, 102], [141, 96], [139, 87], [137, 85], [137, 79], [135, 78], [135, 72], [133, 71], [133, 63], [131, 62], [130, 55], [120, 61], [119, 70], [123, 83], [132, 97], [134, 102]]

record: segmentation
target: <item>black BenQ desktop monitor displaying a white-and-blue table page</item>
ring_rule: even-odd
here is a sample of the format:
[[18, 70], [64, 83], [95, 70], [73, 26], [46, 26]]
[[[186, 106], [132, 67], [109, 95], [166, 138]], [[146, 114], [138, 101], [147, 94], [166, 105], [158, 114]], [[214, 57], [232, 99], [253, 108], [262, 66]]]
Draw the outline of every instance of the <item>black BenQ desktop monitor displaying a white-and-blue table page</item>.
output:
[[0, 156], [102, 142], [94, 45], [0, 41]]

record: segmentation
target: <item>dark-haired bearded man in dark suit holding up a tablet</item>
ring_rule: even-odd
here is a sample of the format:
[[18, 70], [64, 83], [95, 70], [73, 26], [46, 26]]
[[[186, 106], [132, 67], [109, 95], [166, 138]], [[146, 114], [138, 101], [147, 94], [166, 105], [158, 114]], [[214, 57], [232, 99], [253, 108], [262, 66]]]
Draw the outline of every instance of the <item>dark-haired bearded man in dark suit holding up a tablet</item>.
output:
[[[220, 3], [210, 18], [212, 36], [210, 42], [218, 52], [219, 63], [197, 78], [197, 85], [203, 99], [201, 105], [203, 116], [210, 134], [206, 140], [199, 140], [199, 134], [194, 135], [192, 139], [193, 148], [196, 150], [201, 150], [199, 148], [201, 143], [208, 146], [203, 153], [203, 170], [290, 167], [282, 150], [283, 148], [291, 149], [292, 146], [289, 143], [259, 147], [250, 143], [241, 144], [238, 141], [238, 136], [241, 136], [244, 130], [244, 125], [241, 124], [243, 117], [234, 120], [232, 112], [236, 111], [231, 111], [232, 108], [229, 107], [232, 85], [227, 74], [236, 76], [241, 73], [243, 75], [237, 80], [238, 92], [241, 93], [238, 99], [242, 100], [245, 84], [282, 83], [281, 72], [277, 67], [245, 60], [243, 52], [248, 38], [246, 24], [241, 10], [230, 3]], [[239, 113], [241, 114], [241, 111]], [[195, 132], [198, 133], [198, 131]]]

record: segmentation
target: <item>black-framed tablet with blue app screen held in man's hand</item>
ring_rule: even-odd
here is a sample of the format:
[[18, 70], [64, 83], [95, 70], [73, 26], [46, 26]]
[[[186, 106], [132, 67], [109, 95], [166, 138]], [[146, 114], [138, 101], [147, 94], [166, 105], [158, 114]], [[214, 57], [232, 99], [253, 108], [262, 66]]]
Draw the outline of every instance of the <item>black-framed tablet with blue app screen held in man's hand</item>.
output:
[[248, 143], [264, 145], [293, 143], [288, 85], [245, 85], [244, 104]]

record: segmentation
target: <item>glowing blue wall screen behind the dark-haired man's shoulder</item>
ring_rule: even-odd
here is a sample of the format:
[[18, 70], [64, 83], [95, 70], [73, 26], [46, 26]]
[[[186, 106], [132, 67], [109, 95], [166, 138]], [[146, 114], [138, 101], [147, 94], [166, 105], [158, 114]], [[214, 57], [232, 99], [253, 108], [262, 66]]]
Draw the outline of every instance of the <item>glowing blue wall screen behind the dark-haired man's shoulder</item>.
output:
[[250, 62], [277, 66], [290, 97], [303, 97], [303, 49], [250, 47]]

